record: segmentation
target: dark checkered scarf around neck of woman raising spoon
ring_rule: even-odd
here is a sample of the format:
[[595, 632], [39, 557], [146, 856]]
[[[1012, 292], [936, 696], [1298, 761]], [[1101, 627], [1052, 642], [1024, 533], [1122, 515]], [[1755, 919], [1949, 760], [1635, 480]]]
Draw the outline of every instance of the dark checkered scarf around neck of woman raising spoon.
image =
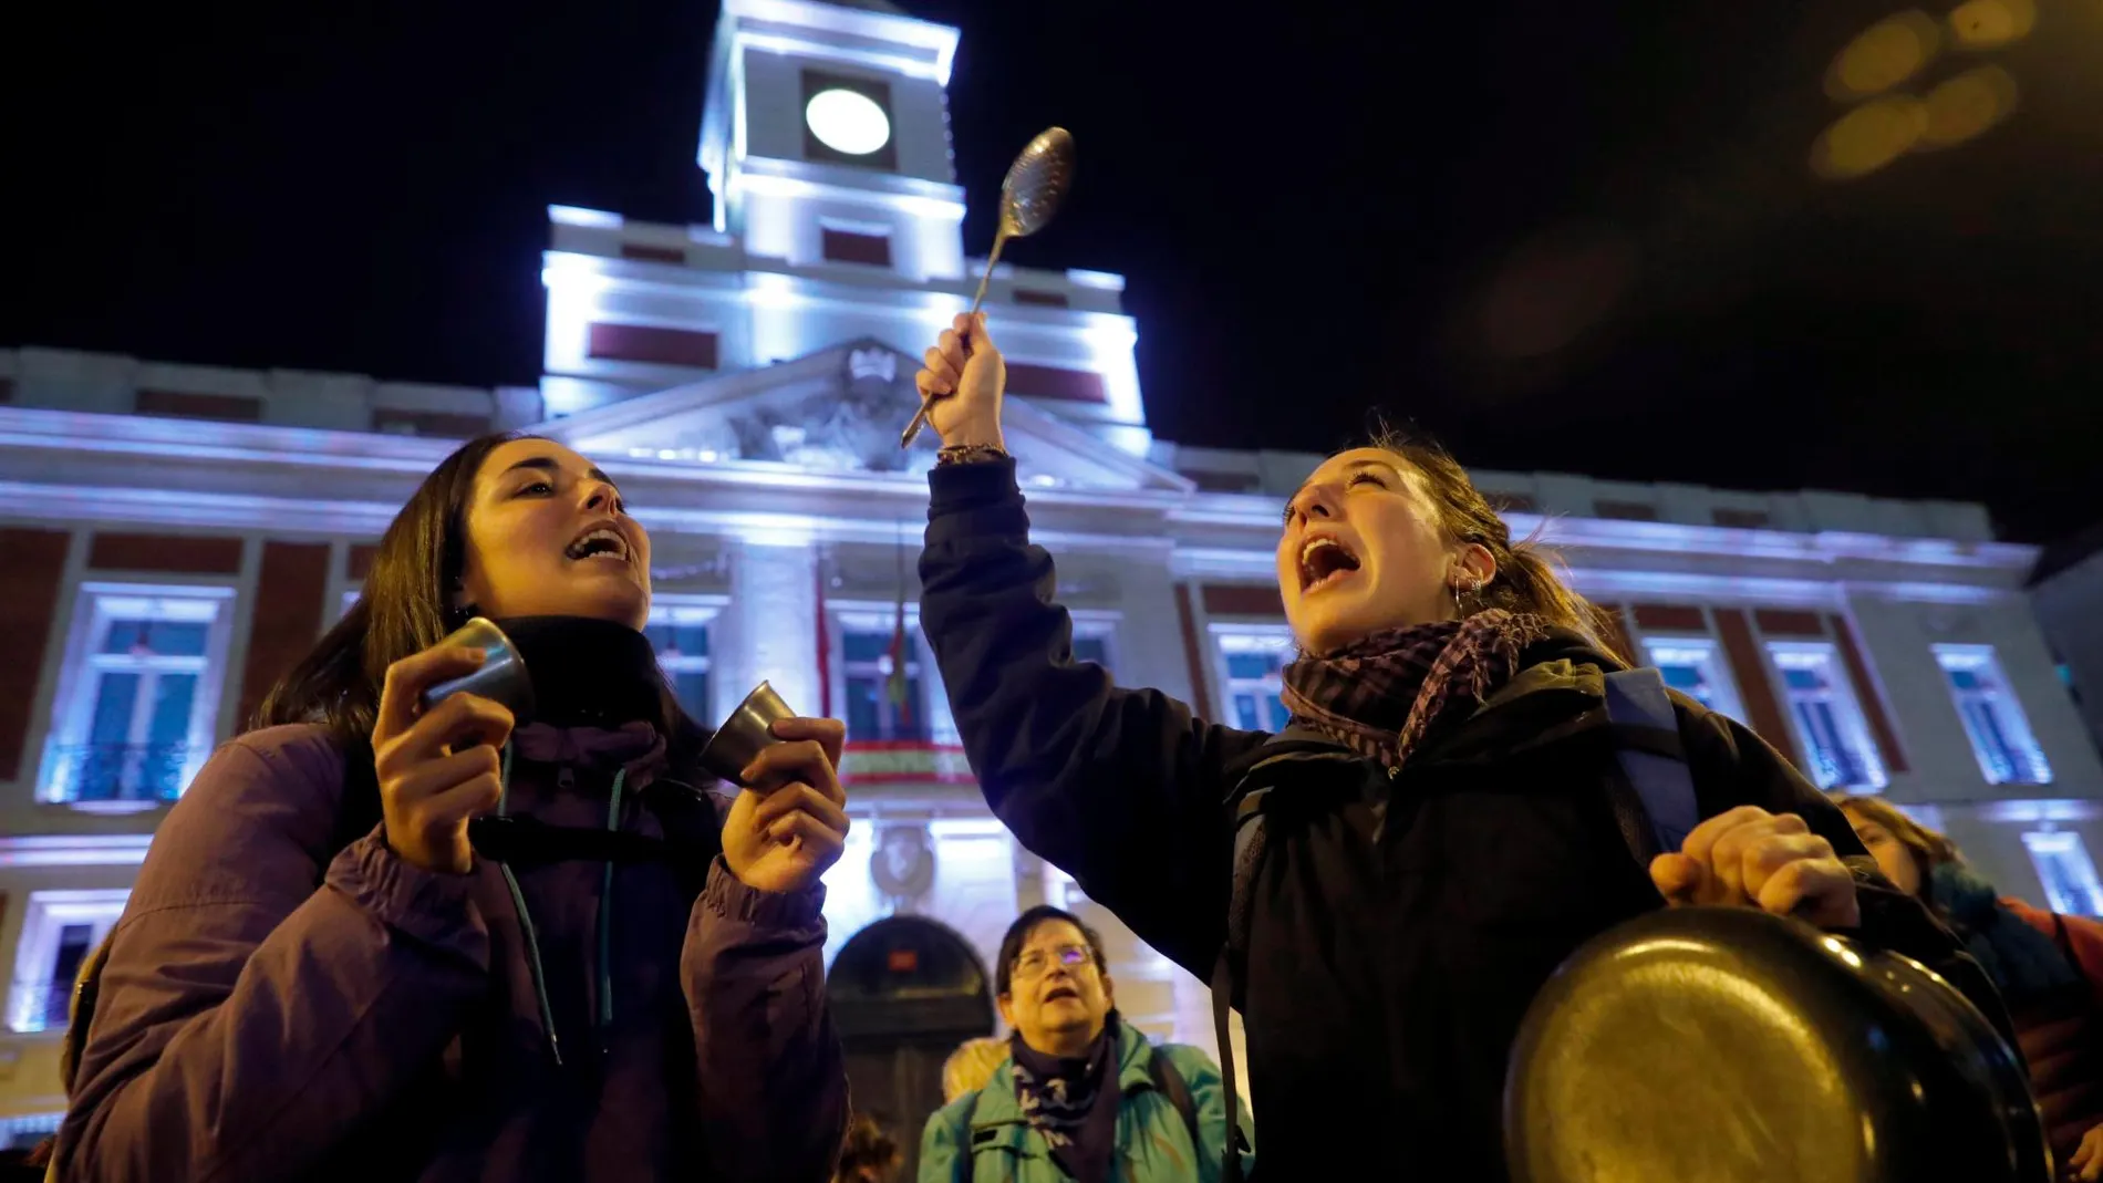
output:
[[1502, 607], [1388, 628], [1285, 666], [1285, 708], [1352, 752], [1398, 769], [1436, 723], [1508, 683], [1520, 649], [1544, 637], [1546, 620]]

